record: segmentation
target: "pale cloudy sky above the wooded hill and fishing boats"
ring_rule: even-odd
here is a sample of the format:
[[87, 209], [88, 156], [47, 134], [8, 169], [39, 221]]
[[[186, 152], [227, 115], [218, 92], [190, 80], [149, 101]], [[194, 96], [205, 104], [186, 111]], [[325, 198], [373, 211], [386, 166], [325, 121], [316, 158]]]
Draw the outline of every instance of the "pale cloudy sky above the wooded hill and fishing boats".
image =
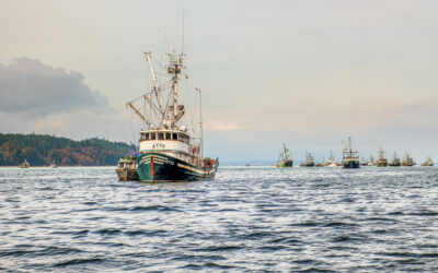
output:
[[[183, 14], [185, 14], [183, 16]], [[181, 47], [205, 154], [438, 158], [438, 2], [0, 1], [0, 132], [135, 142], [145, 51]], [[184, 20], [183, 20], [184, 17]], [[184, 22], [184, 27], [183, 23]]]

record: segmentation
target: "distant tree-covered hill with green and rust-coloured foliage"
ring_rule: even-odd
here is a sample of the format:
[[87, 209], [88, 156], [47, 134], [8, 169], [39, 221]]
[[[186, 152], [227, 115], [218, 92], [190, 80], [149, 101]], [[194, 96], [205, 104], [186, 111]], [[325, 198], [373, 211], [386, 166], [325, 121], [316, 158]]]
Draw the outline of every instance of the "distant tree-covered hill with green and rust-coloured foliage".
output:
[[73, 141], [46, 134], [0, 133], [0, 166], [16, 166], [26, 159], [31, 166], [108, 166], [134, 152], [123, 142], [103, 139]]

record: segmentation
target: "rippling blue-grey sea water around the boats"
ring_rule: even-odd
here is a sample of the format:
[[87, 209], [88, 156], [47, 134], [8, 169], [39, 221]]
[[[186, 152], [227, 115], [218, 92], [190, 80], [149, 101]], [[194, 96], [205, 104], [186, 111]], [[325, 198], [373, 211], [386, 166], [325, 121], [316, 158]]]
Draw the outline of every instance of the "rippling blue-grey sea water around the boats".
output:
[[438, 168], [0, 168], [0, 271], [438, 271]]

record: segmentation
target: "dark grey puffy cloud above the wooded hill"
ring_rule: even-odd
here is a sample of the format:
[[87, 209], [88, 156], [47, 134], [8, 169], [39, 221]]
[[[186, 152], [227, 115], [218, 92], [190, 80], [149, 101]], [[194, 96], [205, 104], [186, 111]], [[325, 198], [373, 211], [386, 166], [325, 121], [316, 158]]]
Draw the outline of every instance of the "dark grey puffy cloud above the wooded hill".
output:
[[18, 58], [0, 63], [0, 111], [47, 116], [78, 109], [111, 109], [105, 96], [92, 91], [84, 76], [51, 68], [38, 60]]

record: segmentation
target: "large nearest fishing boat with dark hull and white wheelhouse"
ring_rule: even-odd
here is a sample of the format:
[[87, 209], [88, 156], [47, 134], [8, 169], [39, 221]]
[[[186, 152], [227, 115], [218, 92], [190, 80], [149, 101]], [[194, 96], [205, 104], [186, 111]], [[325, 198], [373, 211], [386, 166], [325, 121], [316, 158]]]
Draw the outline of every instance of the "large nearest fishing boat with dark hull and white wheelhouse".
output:
[[[196, 96], [197, 106], [192, 105], [192, 108], [187, 109], [182, 103], [181, 85], [188, 79], [184, 72], [185, 55], [176, 54], [175, 50], [168, 54], [168, 66], [162, 66], [151, 52], [145, 52], [145, 56], [153, 86], [147, 94], [126, 104], [147, 127], [140, 131], [140, 155], [135, 162], [139, 180], [165, 182], [214, 179], [219, 159], [204, 157], [200, 88], [191, 87], [191, 94]], [[163, 76], [166, 78], [163, 81], [158, 81], [152, 60], [166, 69], [168, 76]], [[182, 74], [185, 76], [181, 76]], [[163, 84], [160, 84], [161, 82]], [[140, 107], [145, 107], [143, 111], [136, 106], [139, 102]], [[186, 115], [196, 111], [198, 115]], [[198, 122], [195, 123], [196, 119]]]

